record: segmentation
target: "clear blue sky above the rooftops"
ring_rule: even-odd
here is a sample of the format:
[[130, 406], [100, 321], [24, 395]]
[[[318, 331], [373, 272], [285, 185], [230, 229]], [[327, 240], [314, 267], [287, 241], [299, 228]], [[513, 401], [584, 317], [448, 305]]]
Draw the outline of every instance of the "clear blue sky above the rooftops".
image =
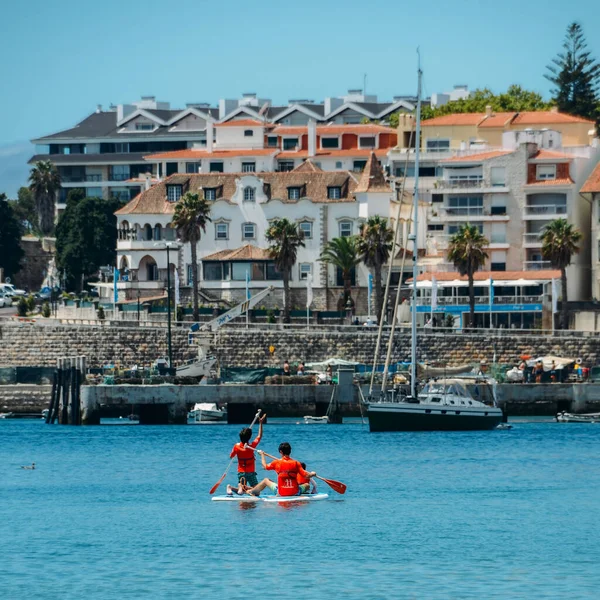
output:
[[257, 92], [274, 102], [362, 87], [382, 100], [455, 83], [545, 96], [545, 66], [569, 22], [600, 58], [597, 0], [29, 0], [0, 20], [0, 145], [156, 95], [174, 107]]

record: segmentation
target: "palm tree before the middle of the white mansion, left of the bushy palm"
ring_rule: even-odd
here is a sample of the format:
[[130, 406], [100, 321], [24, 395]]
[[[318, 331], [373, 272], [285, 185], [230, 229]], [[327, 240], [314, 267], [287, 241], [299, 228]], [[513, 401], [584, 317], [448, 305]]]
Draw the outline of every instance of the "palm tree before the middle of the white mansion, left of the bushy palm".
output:
[[290, 320], [290, 272], [296, 264], [298, 248], [304, 248], [304, 232], [296, 223], [287, 219], [275, 219], [265, 235], [270, 243], [269, 253], [283, 278], [283, 319]]

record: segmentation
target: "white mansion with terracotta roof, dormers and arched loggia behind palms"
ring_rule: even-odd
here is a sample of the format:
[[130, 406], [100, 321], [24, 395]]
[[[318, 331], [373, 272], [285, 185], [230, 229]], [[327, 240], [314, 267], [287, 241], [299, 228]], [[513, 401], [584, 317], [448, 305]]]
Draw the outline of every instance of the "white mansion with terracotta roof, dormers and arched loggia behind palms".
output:
[[[396, 222], [399, 203], [386, 182], [376, 155], [371, 153], [362, 174], [323, 171], [312, 160], [286, 172], [178, 174], [141, 193], [117, 214], [119, 240], [117, 266], [124, 279], [118, 283], [123, 300], [162, 293], [167, 273], [165, 242], [176, 233], [171, 220], [176, 202], [186, 192], [202, 194], [211, 202], [211, 219], [198, 243], [200, 287], [210, 297], [239, 300], [245, 297], [246, 277], [251, 292], [273, 285], [282, 289], [268, 255], [265, 232], [276, 218], [299, 224], [305, 247], [298, 251], [291, 274], [293, 304], [306, 301], [306, 279], [313, 276], [314, 306], [331, 310], [342, 290], [341, 273], [319, 262], [327, 241], [355, 235], [369, 216], [382, 215]], [[412, 206], [400, 205], [402, 239], [407, 242]], [[424, 240], [426, 207], [421, 210]], [[424, 248], [424, 246], [423, 246]], [[170, 252], [170, 269], [178, 269], [182, 285], [191, 284], [191, 248], [177, 244]], [[398, 270], [399, 259], [392, 263]], [[407, 261], [408, 273], [411, 265]], [[399, 275], [398, 277], [399, 278]], [[353, 275], [353, 296], [366, 306], [368, 272], [359, 265]], [[189, 289], [188, 289], [189, 292]], [[362, 300], [361, 300], [362, 298]], [[274, 299], [281, 306], [281, 292]]]

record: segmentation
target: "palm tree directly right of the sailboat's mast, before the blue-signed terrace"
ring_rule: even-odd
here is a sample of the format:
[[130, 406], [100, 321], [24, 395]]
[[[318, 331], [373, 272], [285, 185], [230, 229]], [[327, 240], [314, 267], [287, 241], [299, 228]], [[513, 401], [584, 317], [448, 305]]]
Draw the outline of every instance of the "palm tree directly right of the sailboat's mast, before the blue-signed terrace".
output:
[[480, 233], [475, 225], [465, 223], [450, 238], [448, 260], [461, 275], [469, 278], [469, 326], [475, 327], [475, 290], [473, 275], [483, 267], [488, 257], [484, 248], [488, 240]]

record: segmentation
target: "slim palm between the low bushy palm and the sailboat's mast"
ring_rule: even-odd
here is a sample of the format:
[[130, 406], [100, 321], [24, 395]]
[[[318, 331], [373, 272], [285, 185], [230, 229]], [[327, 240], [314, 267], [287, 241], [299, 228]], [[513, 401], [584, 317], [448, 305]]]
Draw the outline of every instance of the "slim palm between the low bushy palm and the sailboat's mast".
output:
[[360, 226], [360, 235], [356, 245], [362, 261], [373, 273], [376, 314], [379, 323], [383, 311], [381, 269], [388, 261], [394, 246], [394, 232], [388, 227], [387, 219], [378, 215], [369, 217], [367, 222]]

